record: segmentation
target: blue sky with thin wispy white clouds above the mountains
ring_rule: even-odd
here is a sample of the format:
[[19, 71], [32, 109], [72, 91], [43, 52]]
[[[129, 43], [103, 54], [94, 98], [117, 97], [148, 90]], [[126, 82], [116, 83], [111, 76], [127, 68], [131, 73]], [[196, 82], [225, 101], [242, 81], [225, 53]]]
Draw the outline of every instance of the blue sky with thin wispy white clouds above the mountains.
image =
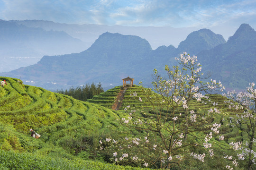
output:
[[198, 27], [234, 34], [243, 23], [256, 28], [256, 0], [0, 0], [0, 19]]

